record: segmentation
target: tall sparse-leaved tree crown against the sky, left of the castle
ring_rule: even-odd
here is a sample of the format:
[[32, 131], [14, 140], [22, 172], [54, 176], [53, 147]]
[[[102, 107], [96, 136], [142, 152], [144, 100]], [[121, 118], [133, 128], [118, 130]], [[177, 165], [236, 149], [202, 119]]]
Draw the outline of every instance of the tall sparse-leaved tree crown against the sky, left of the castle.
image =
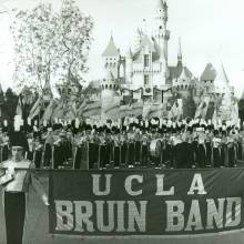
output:
[[42, 93], [47, 82], [63, 83], [70, 77], [81, 81], [92, 27], [91, 17], [83, 16], [73, 0], [63, 0], [60, 12], [53, 12], [51, 4], [17, 12], [11, 32], [19, 87]]

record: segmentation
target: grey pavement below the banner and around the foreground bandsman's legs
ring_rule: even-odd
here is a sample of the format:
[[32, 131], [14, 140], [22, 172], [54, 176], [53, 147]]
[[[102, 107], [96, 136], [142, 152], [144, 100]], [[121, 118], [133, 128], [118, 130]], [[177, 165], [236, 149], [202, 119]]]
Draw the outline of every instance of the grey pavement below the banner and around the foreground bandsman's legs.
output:
[[[244, 169], [243, 169], [244, 170]], [[40, 175], [40, 181], [48, 192], [48, 176]], [[0, 201], [2, 196], [0, 196]], [[244, 231], [216, 234], [211, 236], [164, 237], [164, 236], [113, 236], [85, 237], [49, 234], [48, 209], [42, 204], [32, 187], [29, 194], [29, 213], [26, 220], [23, 244], [243, 244]], [[0, 244], [6, 244], [4, 216], [0, 204]]]

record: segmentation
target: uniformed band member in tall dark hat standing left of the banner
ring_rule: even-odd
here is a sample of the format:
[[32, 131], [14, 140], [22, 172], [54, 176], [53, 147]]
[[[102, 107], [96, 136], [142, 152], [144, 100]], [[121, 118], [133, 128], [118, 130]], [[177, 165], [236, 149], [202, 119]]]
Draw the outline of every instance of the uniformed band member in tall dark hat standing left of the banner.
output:
[[0, 164], [1, 186], [3, 187], [7, 244], [22, 244], [26, 217], [26, 193], [32, 184], [43, 203], [49, 205], [48, 196], [34, 174], [34, 164], [24, 159], [27, 138], [14, 132], [10, 138], [11, 160]]

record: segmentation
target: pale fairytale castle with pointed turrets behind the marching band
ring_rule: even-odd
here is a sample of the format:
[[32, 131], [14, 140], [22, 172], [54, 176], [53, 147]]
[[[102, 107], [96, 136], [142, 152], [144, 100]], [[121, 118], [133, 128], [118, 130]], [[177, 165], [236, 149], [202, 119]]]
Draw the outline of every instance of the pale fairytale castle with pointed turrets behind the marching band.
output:
[[177, 62], [169, 65], [167, 20], [167, 3], [157, 0], [152, 35], [139, 28], [136, 44], [126, 53], [121, 53], [113, 37], [110, 38], [102, 53], [104, 78], [99, 81], [103, 111], [119, 100], [121, 104], [141, 102], [144, 108], [161, 104], [165, 111], [176, 103], [183, 116], [212, 119], [216, 113], [228, 116], [231, 111], [224, 111], [226, 104], [235, 105], [236, 100], [223, 64], [216, 71], [209, 63], [200, 78], [194, 77], [183, 63], [179, 41]]

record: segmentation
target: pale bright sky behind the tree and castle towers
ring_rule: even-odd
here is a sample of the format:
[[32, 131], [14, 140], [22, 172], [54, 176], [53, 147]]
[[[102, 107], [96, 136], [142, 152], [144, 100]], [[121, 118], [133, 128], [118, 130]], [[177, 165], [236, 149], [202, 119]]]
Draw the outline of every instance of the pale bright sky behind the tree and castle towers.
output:
[[[33, 8], [40, 2], [51, 2], [58, 9], [61, 0], [0, 0], [0, 11]], [[102, 52], [111, 33], [122, 54], [133, 45], [136, 28], [151, 34], [155, 28], [157, 0], [77, 0], [85, 14], [94, 20], [93, 42], [89, 55], [87, 79], [104, 77]], [[230, 84], [236, 95], [244, 91], [244, 1], [243, 0], [167, 0], [171, 31], [169, 64], [176, 64], [179, 38], [181, 38], [183, 64], [201, 77], [206, 63], [216, 69], [224, 64]], [[9, 33], [11, 13], [0, 14], [0, 83], [6, 90], [12, 81], [14, 55]], [[143, 19], [146, 24], [143, 24]], [[144, 27], [143, 27], [144, 26]]]

